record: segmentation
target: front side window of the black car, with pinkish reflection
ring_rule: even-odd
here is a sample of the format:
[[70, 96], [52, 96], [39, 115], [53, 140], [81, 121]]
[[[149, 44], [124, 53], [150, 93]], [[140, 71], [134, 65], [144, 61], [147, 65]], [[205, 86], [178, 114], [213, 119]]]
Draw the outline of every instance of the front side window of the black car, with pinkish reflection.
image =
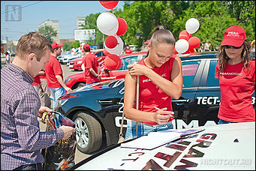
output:
[[191, 88], [200, 61], [182, 62], [183, 88]]

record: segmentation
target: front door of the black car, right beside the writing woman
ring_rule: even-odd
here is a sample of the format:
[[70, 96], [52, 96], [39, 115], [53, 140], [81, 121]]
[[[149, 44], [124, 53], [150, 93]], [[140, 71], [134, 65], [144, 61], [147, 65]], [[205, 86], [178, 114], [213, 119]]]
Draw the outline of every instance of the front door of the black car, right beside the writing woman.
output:
[[[197, 113], [195, 96], [197, 93], [200, 78], [203, 74], [203, 68], [206, 59], [191, 59], [182, 61], [182, 95], [178, 100], [172, 99], [174, 112], [174, 128], [181, 129], [188, 127], [191, 122], [191, 116]], [[194, 124], [194, 123], [191, 123]], [[191, 127], [193, 125], [190, 125]]]

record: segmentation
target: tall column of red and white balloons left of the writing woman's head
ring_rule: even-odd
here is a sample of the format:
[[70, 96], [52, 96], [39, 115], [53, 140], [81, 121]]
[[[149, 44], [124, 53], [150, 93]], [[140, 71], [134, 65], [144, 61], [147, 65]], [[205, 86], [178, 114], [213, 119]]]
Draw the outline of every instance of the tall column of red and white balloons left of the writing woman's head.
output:
[[[100, 1], [100, 3], [103, 7], [113, 10], [119, 1]], [[104, 65], [111, 71], [118, 70], [122, 65], [119, 55], [122, 54], [124, 46], [120, 36], [127, 31], [127, 23], [122, 18], [116, 18], [113, 13], [104, 12], [97, 18], [97, 27], [101, 33], [107, 35], [104, 40], [104, 54], [107, 55]]]

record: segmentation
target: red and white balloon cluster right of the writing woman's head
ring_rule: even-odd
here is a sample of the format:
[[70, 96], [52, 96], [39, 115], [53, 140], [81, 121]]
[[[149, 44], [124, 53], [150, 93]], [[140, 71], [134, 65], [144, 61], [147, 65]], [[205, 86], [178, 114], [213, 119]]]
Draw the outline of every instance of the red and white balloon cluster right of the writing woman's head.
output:
[[199, 26], [200, 24], [197, 19], [191, 18], [187, 20], [185, 30], [179, 33], [179, 40], [175, 43], [173, 54], [191, 53], [200, 46], [200, 39], [191, 35], [198, 30]]

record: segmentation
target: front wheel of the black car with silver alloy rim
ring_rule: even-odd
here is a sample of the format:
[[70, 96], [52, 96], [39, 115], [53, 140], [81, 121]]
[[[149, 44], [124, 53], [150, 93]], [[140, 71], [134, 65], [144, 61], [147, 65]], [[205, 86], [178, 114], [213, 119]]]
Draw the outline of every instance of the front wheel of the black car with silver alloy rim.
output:
[[74, 115], [76, 124], [77, 149], [83, 153], [92, 153], [101, 148], [101, 124], [92, 115], [79, 112]]

